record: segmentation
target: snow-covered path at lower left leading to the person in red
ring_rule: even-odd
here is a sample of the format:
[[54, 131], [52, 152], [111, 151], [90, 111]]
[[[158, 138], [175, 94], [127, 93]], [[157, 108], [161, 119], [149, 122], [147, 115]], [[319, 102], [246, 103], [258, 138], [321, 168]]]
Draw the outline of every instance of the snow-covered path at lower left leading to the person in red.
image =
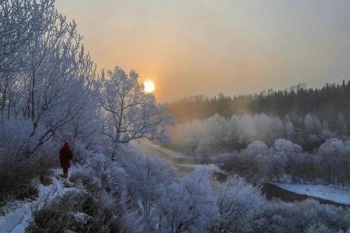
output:
[[[74, 167], [71, 167], [71, 172]], [[55, 169], [54, 174], [58, 175], [60, 169]], [[52, 184], [44, 186], [38, 184], [38, 198], [33, 201], [12, 201], [10, 204], [5, 205], [4, 215], [0, 216], [0, 233], [23, 233], [25, 227], [31, 220], [30, 208], [37, 201], [45, 199], [47, 197], [54, 198], [64, 194], [68, 190], [74, 190], [73, 187], [64, 187], [62, 179], [52, 178]], [[75, 189], [77, 190], [77, 189]]]

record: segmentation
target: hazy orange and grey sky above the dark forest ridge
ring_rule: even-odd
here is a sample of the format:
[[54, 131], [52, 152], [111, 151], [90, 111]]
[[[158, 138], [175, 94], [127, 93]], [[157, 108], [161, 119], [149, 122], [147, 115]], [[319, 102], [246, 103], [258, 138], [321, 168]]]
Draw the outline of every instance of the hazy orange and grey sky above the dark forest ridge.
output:
[[99, 67], [158, 100], [350, 79], [349, 0], [56, 0]]

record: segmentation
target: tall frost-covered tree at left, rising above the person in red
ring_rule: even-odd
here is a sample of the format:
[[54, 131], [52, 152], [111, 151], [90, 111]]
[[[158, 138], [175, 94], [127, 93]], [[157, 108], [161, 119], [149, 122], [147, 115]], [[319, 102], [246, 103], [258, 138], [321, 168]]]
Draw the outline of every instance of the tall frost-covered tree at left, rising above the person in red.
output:
[[70, 123], [87, 121], [79, 119], [89, 115], [101, 86], [75, 22], [53, 3], [18, 0], [0, 6], [1, 122], [4, 117], [31, 121], [29, 135], [16, 147], [28, 157], [51, 138], [74, 134]]

